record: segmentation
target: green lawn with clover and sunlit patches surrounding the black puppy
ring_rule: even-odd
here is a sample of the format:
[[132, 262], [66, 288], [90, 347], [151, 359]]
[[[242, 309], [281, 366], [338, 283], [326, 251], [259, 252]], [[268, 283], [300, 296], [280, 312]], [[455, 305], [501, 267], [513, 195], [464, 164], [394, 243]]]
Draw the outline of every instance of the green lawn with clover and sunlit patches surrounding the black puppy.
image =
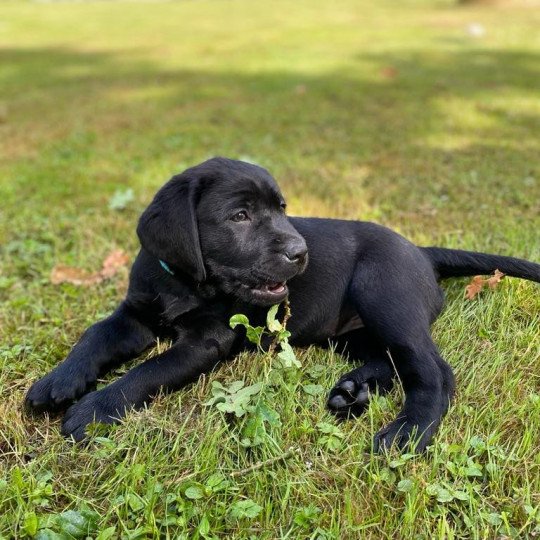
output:
[[[540, 534], [540, 300], [519, 280], [472, 302], [463, 280], [445, 285], [433, 331], [458, 393], [424, 457], [370, 453], [397, 390], [336, 424], [320, 392], [347, 365], [315, 348], [253, 398], [279, 422], [252, 447], [241, 443], [250, 414], [204, 403], [214, 381], [265, 381], [262, 356], [88, 446], [21, 407], [125, 289], [125, 275], [53, 286], [52, 267], [98, 269], [115, 247], [134, 256], [152, 194], [211, 155], [270, 168], [293, 214], [539, 260], [539, 23], [526, 3], [2, 4], [0, 537]], [[127, 208], [109, 209], [128, 188]]]

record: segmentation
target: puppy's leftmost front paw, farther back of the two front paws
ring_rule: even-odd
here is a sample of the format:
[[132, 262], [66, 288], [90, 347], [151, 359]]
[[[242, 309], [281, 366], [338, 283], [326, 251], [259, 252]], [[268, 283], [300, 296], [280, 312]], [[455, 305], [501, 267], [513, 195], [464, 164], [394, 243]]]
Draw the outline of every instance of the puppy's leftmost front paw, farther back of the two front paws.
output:
[[38, 412], [57, 411], [82, 396], [96, 382], [90, 370], [60, 364], [28, 390], [25, 404]]

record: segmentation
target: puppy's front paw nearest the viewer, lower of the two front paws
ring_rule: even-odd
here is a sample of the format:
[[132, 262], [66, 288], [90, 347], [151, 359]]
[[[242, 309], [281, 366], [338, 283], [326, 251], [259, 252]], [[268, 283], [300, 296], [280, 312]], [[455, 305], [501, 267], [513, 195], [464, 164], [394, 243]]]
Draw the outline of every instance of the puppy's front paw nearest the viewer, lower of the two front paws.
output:
[[86, 437], [89, 424], [116, 424], [130, 408], [123, 396], [119, 399], [108, 388], [90, 392], [66, 411], [62, 422], [62, 435], [71, 437], [76, 442], [82, 441]]

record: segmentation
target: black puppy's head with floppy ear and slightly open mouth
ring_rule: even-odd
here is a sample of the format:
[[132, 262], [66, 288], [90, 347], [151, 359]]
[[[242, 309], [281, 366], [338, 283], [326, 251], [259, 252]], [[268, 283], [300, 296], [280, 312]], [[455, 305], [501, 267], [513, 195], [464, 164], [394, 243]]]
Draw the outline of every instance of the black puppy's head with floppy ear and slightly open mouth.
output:
[[173, 177], [141, 216], [143, 247], [198, 282], [258, 305], [288, 294], [307, 264], [304, 239], [263, 168], [214, 158]]

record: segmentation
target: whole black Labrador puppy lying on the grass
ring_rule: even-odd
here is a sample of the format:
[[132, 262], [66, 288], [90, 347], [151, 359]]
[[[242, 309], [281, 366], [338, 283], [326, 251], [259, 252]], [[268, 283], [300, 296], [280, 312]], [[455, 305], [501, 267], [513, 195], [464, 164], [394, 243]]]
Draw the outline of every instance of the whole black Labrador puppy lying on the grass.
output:
[[[375, 448], [410, 444], [421, 451], [454, 392], [452, 370], [430, 335], [444, 300], [437, 280], [499, 269], [540, 281], [536, 263], [419, 248], [373, 223], [288, 218], [266, 170], [224, 158], [174, 176], [141, 216], [137, 233], [142, 249], [126, 299], [26, 397], [32, 408], [54, 410], [84, 396], [67, 410], [62, 428], [76, 440], [89, 423], [112, 423], [249, 347], [229, 318], [244, 313], [262, 322], [268, 306], [288, 296], [293, 345], [330, 340], [363, 361], [331, 390], [329, 407], [340, 416], [360, 413], [370, 392], [392, 387], [395, 366], [405, 404], [377, 433]], [[172, 338], [173, 346], [87, 393], [100, 374], [158, 337]]]

